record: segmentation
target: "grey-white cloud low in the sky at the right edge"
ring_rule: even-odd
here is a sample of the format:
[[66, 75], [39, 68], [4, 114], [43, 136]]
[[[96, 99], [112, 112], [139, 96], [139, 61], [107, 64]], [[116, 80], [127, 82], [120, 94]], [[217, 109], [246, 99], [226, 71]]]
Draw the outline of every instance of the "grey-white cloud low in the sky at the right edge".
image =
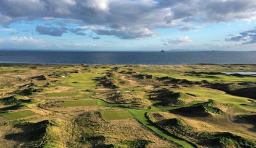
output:
[[237, 35], [228, 35], [225, 41], [244, 41], [242, 44], [255, 44], [256, 43], [256, 29], [243, 31]]

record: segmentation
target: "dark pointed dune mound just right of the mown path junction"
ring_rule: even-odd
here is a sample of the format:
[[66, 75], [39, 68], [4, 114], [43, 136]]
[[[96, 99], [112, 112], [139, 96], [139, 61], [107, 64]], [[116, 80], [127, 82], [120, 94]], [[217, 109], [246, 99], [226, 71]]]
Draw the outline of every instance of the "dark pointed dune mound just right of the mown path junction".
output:
[[191, 117], [210, 117], [212, 113], [223, 113], [223, 111], [219, 109], [216, 104], [218, 103], [215, 101], [209, 101], [189, 107], [181, 107], [179, 109], [175, 109], [174, 112]]

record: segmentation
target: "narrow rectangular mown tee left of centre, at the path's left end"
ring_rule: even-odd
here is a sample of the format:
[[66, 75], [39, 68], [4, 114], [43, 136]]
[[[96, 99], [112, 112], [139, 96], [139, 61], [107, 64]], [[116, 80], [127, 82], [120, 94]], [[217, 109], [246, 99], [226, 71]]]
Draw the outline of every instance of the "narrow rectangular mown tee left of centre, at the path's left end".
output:
[[62, 107], [92, 106], [97, 105], [97, 100], [65, 101]]

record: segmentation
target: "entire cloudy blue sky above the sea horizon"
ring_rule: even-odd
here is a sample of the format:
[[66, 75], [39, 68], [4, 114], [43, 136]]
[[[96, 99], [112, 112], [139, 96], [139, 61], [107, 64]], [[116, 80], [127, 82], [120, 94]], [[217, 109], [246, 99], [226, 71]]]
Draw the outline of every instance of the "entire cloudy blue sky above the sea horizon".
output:
[[0, 50], [256, 51], [255, 0], [1, 0]]

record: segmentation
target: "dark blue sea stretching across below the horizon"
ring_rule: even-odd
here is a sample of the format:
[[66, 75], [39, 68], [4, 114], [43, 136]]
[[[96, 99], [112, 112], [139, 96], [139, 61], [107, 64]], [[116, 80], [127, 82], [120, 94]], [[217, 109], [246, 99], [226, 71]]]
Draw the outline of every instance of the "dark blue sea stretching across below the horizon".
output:
[[27, 64], [256, 64], [256, 52], [0, 51], [0, 63]]

